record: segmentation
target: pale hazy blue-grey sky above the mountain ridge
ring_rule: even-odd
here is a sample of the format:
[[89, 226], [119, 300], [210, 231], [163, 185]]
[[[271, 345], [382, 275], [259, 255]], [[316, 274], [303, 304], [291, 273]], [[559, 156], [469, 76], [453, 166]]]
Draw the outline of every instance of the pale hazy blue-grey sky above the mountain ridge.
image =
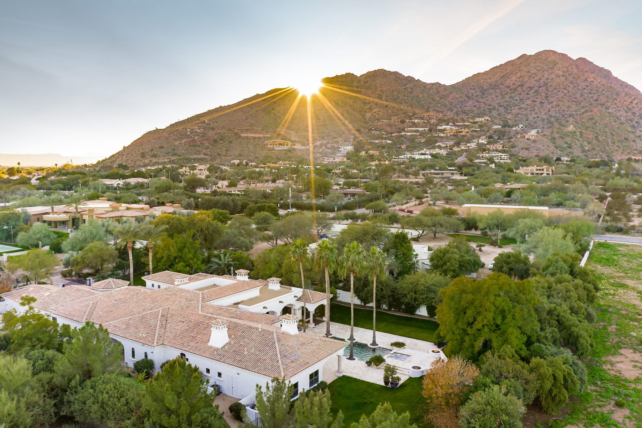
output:
[[642, 89], [640, 22], [635, 0], [0, 0], [0, 153], [104, 157], [274, 87], [380, 68], [453, 84], [543, 49]]

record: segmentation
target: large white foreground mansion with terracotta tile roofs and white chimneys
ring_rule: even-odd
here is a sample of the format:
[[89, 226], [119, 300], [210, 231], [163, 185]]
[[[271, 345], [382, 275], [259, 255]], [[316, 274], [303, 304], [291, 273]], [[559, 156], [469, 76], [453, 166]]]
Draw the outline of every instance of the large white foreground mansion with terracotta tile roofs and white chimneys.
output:
[[[324, 363], [343, 355], [345, 343], [298, 331], [301, 289], [285, 287], [279, 278], [250, 280], [247, 271], [237, 273], [165, 271], [143, 277], [147, 287], [109, 280], [27, 285], [2, 294], [0, 308], [22, 312], [21, 297], [33, 296], [32, 306], [60, 324], [74, 328], [89, 321], [107, 328], [123, 344], [126, 366], [150, 358], [158, 370], [182, 357], [232, 397], [252, 400], [256, 384], [273, 377], [309, 389], [323, 379]], [[310, 310], [324, 303], [324, 293], [306, 292]]]

